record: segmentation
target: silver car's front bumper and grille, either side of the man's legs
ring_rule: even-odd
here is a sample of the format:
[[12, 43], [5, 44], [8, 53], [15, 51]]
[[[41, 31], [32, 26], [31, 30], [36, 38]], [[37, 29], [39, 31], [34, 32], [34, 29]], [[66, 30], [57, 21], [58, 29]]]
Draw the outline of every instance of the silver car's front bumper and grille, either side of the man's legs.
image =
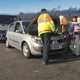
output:
[[[42, 47], [43, 45], [40, 43], [32, 43], [31, 44], [31, 51], [34, 54], [41, 54]], [[68, 42], [67, 39], [65, 39], [63, 36], [58, 36], [58, 37], [51, 37], [50, 41], [50, 51], [63, 51], [68, 47]]]

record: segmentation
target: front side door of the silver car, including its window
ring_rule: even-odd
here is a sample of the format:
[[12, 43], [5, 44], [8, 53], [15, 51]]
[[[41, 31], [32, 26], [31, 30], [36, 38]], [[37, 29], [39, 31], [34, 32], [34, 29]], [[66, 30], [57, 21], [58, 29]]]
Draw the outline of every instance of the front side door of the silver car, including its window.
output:
[[15, 24], [15, 30], [14, 30], [14, 47], [16, 47], [17, 49], [20, 49], [20, 45], [21, 45], [21, 41], [23, 38], [23, 29], [22, 29], [22, 25], [20, 22], [17, 22]]

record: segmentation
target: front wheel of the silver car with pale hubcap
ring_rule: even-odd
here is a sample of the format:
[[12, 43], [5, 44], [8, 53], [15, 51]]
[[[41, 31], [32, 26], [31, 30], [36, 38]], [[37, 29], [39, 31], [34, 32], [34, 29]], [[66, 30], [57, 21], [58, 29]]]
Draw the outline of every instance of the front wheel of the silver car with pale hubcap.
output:
[[29, 49], [29, 46], [28, 46], [27, 43], [23, 43], [22, 53], [26, 58], [30, 58], [31, 57], [31, 52], [30, 52], [30, 49]]

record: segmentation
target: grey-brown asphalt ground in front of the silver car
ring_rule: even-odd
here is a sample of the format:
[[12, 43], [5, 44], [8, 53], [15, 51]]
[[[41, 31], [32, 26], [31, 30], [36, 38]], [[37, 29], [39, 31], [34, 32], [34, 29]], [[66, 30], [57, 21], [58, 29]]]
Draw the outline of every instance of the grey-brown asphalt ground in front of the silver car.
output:
[[58, 54], [43, 65], [40, 56], [26, 59], [0, 43], [0, 80], [80, 80], [80, 57]]

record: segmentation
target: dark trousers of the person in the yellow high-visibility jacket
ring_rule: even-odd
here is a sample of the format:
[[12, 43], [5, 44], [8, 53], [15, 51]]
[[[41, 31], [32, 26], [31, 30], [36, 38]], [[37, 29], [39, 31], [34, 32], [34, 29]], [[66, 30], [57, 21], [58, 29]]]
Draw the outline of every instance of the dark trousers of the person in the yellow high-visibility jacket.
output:
[[41, 35], [42, 42], [43, 42], [43, 53], [42, 58], [44, 62], [48, 62], [48, 54], [50, 50], [50, 34], [44, 33]]

